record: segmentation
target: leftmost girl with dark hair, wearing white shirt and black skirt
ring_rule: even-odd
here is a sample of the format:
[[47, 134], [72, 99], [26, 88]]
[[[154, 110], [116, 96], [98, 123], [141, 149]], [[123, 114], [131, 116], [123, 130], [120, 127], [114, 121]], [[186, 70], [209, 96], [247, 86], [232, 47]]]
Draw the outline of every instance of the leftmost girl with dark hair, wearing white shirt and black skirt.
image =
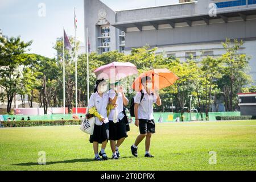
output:
[[[90, 135], [90, 143], [93, 143], [94, 160], [108, 160], [105, 153], [105, 148], [109, 138], [109, 119], [107, 116], [107, 106], [109, 103], [109, 96], [106, 93], [108, 85], [104, 79], [97, 80], [94, 86], [94, 93], [90, 96], [89, 112], [90, 109], [95, 107], [101, 117], [96, 117], [93, 135]], [[101, 143], [101, 151], [98, 153], [98, 144]], [[100, 158], [102, 156], [102, 159]]]

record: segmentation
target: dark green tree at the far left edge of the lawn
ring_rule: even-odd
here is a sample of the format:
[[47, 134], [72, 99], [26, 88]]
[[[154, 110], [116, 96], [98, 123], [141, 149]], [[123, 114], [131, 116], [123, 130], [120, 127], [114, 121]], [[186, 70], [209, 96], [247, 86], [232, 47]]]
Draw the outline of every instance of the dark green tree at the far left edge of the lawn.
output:
[[[1, 45], [2, 44], [2, 45]], [[19, 85], [22, 83], [23, 72], [20, 65], [26, 66], [30, 55], [25, 54], [26, 48], [32, 44], [23, 42], [20, 38], [0, 38], [0, 87], [4, 90], [1, 94], [7, 99], [7, 113], [16, 93], [22, 92]]]

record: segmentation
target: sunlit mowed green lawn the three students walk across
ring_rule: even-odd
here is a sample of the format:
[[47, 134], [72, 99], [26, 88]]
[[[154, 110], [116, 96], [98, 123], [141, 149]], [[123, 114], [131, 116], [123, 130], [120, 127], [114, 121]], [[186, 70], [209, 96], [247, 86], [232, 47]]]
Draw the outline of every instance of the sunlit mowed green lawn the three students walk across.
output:
[[[138, 135], [131, 125], [119, 160], [94, 162], [89, 135], [79, 126], [0, 129], [0, 170], [255, 170], [256, 121], [157, 123], [152, 136], [154, 159], [144, 158], [144, 141], [138, 158], [130, 146]], [[46, 165], [38, 152], [46, 152]], [[209, 164], [209, 152], [217, 164]], [[108, 144], [107, 155], [112, 152]]]

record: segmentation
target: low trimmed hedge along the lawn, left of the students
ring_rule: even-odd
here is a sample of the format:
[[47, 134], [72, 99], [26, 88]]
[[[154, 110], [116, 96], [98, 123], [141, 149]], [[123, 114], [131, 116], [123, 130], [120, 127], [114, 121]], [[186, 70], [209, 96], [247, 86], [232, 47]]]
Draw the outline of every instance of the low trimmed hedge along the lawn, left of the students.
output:
[[53, 120], [53, 121], [1, 121], [0, 127], [30, 127], [30, 126], [65, 126], [81, 125], [80, 120]]

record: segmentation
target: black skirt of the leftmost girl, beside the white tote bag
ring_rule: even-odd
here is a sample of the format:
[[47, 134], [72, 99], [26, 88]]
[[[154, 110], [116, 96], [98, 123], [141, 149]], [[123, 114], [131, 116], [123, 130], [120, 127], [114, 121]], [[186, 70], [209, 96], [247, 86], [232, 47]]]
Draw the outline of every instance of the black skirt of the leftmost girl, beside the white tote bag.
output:
[[94, 125], [93, 135], [90, 135], [90, 143], [102, 143], [109, 139], [109, 123], [103, 123], [101, 126]]

